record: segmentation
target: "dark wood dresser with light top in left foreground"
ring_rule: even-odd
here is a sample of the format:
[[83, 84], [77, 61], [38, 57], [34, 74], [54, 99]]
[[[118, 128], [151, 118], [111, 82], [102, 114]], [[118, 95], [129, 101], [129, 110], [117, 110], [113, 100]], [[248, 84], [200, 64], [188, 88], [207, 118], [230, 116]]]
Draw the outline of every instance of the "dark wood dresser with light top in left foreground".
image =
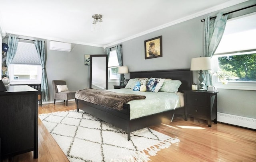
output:
[[6, 86], [0, 92], [0, 158], [34, 151], [38, 158], [38, 90]]

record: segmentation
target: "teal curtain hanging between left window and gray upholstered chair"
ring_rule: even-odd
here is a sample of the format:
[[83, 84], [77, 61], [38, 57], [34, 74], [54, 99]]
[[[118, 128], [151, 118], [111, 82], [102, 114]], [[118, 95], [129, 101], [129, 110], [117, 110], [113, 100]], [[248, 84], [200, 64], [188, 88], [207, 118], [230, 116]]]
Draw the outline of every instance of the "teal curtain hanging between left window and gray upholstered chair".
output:
[[48, 81], [46, 75], [46, 57], [44, 51], [44, 40], [34, 40], [34, 44], [36, 46], [36, 51], [38, 53], [38, 57], [42, 66], [42, 82], [41, 82], [41, 91], [42, 91], [42, 99], [43, 101], [48, 101]]

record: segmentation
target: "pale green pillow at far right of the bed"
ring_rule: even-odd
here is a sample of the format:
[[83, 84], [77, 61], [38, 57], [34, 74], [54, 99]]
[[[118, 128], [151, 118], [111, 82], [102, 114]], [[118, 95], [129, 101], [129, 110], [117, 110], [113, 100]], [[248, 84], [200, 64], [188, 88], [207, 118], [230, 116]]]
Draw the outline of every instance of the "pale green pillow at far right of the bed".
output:
[[162, 87], [160, 88], [159, 92], [178, 92], [178, 89], [181, 85], [180, 80], [164, 80]]

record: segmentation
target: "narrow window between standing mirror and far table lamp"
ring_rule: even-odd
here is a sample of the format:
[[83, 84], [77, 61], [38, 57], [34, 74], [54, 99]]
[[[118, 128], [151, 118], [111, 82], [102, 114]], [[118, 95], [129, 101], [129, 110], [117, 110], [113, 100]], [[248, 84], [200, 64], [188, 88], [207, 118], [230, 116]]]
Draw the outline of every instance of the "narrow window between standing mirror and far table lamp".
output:
[[120, 74], [118, 74], [118, 67], [116, 50], [112, 50], [108, 59], [108, 82], [119, 82]]

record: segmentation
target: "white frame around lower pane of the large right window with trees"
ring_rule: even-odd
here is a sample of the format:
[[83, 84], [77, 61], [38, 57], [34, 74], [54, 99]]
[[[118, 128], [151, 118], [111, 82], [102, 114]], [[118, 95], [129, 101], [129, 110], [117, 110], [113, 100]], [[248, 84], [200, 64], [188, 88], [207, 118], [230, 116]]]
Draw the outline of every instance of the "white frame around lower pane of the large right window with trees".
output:
[[[255, 50], [238, 51], [230, 53], [218, 53], [212, 56], [213, 71], [218, 71], [218, 57], [232, 56], [232, 55], [246, 55], [250, 53], [256, 53]], [[212, 76], [212, 85], [219, 89], [230, 89], [230, 90], [256, 90], [256, 82], [228, 82], [228, 84], [222, 84], [218, 81], [217, 76]]]

